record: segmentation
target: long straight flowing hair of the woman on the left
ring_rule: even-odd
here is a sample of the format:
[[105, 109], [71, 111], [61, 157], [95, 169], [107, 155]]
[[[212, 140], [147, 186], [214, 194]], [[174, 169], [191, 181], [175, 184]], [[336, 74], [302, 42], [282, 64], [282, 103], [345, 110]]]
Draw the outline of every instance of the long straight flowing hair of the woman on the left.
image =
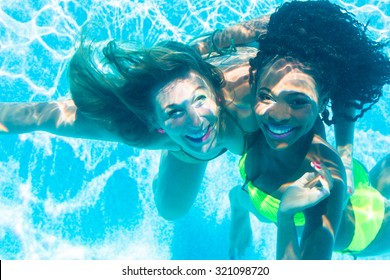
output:
[[222, 72], [188, 45], [165, 41], [137, 49], [129, 43], [82, 40], [70, 62], [70, 89], [82, 114], [142, 146], [144, 137], [154, 129], [153, 89], [191, 70], [220, 92]]

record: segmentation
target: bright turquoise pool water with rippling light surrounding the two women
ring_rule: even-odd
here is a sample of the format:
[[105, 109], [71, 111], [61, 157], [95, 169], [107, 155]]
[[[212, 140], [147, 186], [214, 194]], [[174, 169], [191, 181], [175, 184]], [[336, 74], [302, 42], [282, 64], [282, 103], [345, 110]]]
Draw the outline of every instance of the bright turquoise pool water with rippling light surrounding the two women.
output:
[[[371, 19], [375, 38], [389, 37], [388, 0], [334, 2]], [[187, 42], [271, 13], [283, 1], [171, 3], [0, 0], [0, 101], [69, 98], [67, 62], [86, 21], [115, 39]], [[389, 91], [356, 125], [355, 156], [368, 168], [390, 152]], [[238, 158], [226, 153], [209, 164], [196, 203], [175, 223], [160, 218], [153, 203], [158, 160], [157, 151], [121, 144], [43, 132], [2, 136], [0, 259], [226, 259], [227, 192], [241, 182]], [[252, 222], [254, 245], [245, 258], [274, 259], [275, 227]]]

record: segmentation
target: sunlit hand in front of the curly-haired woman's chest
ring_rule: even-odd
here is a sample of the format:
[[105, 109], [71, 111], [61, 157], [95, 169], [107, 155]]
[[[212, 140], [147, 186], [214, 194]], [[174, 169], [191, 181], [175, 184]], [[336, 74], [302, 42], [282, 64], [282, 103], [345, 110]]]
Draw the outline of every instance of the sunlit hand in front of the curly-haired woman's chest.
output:
[[314, 172], [306, 172], [284, 192], [279, 206], [279, 215], [293, 216], [318, 204], [330, 194], [332, 177], [326, 166], [312, 162]]

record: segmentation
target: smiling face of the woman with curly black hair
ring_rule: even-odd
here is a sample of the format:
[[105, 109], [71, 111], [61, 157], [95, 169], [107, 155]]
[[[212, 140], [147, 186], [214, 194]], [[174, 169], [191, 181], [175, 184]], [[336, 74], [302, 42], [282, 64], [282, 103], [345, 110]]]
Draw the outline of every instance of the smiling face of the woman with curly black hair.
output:
[[278, 59], [261, 70], [254, 109], [271, 148], [288, 148], [306, 135], [324, 103], [313, 77], [296, 63]]

